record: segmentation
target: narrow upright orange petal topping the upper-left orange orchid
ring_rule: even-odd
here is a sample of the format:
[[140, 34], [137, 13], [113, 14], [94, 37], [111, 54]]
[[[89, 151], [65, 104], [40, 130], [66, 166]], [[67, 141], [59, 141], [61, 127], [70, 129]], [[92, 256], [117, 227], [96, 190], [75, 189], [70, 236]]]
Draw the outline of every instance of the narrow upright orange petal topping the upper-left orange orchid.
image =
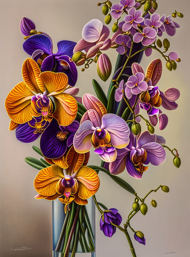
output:
[[22, 66], [22, 76], [27, 87], [36, 95], [37, 93], [43, 93], [45, 91], [45, 86], [39, 77], [41, 73], [40, 68], [37, 63], [31, 59], [27, 58]]

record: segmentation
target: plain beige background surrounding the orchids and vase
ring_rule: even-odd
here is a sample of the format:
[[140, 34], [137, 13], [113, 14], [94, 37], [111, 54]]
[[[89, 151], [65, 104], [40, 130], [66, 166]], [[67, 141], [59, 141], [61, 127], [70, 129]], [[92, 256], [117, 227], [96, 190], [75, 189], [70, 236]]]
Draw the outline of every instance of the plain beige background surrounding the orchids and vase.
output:
[[[131, 222], [135, 230], [143, 231], [146, 246], [134, 242], [138, 257], [162, 257], [167, 252], [176, 252], [174, 256], [189, 257], [189, 1], [157, 0], [157, 12], [171, 14], [175, 9], [183, 12], [183, 19], [176, 18], [181, 25], [170, 40], [170, 51], [177, 51], [182, 59], [176, 71], [165, 68], [164, 59], [158, 52], [151, 57], [143, 57], [141, 65], [146, 70], [151, 60], [161, 58], [163, 61], [162, 78], [159, 88], [178, 87], [181, 97], [179, 107], [174, 111], [164, 111], [169, 115], [169, 123], [164, 131], [156, 133], [164, 136], [167, 145], [176, 147], [181, 157], [181, 167], [177, 169], [172, 163], [172, 155], [167, 151], [167, 160], [160, 167], [151, 166], [142, 180], [135, 180], [126, 171], [121, 174], [134, 187], [138, 195], [144, 196], [150, 189], [160, 184], [170, 187], [168, 194], [159, 190], [147, 198], [148, 213], [138, 213]], [[44, 31], [53, 39], [53, 51], [59, 40], [81, 39], [83, 25], [92, 18], [104, 20], [101, 7], [97, 1], [61, 0], [61, 1], [1, 1], [1, 257], [50, 257], [52, 256], [52, 204], [45, 200], [35, 200], [33, 180], [37, 170], [26, 164], [26, 156], [38, 157], [32, 145], [23, 144], [15, 139], [13, 131], [8, 131], [9, 117], [4, 109], [4, 100], [8, 92], [22, 81], [21, 67], [28, 57], [22, 49], [23, 36], [20, 33], [20, 19], [31, 18], [38, 31]], [[170, 52], [169, 51], [169, 52]], [[114, 49], [108, 51], [114, 63], [117, 54]], [[110, 77], [111, 78], [111, 77]], [[92, 79], [96, 79], [105, 91], [109, 81], [101, 82], [96, 74], [96, 66], [91, 65], [85, 72], [78, 69], [77, 85], [80, 96], [94, 93]], [[145, 112], [144, 112], [145, 114]], [[90, 164], [100, 163], [97, 156], [91, 155]], [[115, 184], [104, 173], [99, 173], [101, 186], [96, 196], [98, 201], [109, 208], [119, 210], [126, 221], [134, 200], [132, 194]], [[155, 199], [157, 208], [150, 205]], [[96, 211], [96, 254], [98, 257], [131, 256], [125, 235], [117, 231], [112, 238], [99, 230], [99, 212]], [[133, 233], [130, 233], [133, 238]], [[11, 248], [31, 247], [32, 250], [16, 252]], [[173, 256], [172, 255], [172, 256]], [[83, 256], [83, 255], [80, 255]]]

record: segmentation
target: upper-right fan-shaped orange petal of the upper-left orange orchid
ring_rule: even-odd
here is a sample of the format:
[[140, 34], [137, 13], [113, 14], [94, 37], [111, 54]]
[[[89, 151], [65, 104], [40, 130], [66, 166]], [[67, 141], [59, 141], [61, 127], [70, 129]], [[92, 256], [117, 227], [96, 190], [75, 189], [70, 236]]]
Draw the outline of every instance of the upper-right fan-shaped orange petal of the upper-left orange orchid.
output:
[[44, 71], [39, 76], [45, 84], [47, 97], [62, 93], [68, 84], [68, 77], [62, 72]]

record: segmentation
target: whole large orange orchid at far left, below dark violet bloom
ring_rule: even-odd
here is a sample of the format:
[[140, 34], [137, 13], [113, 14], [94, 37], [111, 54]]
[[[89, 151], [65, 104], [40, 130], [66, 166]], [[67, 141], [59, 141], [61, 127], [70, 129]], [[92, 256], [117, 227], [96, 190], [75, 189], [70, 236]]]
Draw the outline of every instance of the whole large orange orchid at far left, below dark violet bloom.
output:
[[41, 73], [37, 63], [27, 58], [22, 66], [22, 76], [23, 82], [18, 83], [5, 100], [6, 111], [12, 120], [10, 130], [16, 123], [26, 123], [39, 116], [49, 122], [54, 117], [61, 126], [72, 123], [77, 115], [77, 101], [64, 93], [68, 84], [66, 74]]

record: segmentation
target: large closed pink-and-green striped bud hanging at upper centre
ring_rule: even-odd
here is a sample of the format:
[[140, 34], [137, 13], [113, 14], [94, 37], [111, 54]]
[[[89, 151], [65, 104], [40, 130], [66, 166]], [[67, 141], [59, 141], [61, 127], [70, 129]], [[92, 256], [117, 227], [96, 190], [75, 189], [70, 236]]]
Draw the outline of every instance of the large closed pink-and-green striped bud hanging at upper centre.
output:
[[107, 54], [101, 54], [99, 56], [98, 61], [96, 63], [96, 68], [98, 76], [103, 81], [106, 81], [112, 72], [112, 65]]

